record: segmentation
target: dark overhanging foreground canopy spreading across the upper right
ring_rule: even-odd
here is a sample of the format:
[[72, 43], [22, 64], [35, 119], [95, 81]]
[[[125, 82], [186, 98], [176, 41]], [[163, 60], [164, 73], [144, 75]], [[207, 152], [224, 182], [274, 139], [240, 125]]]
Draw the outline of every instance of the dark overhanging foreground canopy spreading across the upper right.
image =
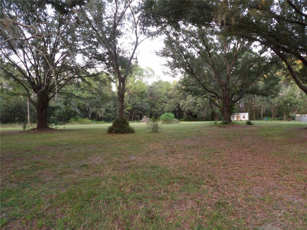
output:
[[[307, 94], [306, 1], [146, 1], [143, 5], [144, 26], [167, 25], [173, 31], [222, 27], [227, 36], [269, 48]], [[173, 31], [168, 29], [167, 33]], [[301, 68], [297, 69], [297, 64]]]

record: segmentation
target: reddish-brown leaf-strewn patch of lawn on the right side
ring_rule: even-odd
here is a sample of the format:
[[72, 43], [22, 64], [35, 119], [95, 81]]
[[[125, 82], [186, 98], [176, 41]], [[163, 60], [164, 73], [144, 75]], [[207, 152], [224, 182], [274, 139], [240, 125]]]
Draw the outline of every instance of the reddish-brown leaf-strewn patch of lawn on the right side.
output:
[[[148, 148], [150, 162], [207, 182], [204, 186], [207, 194], [186, 196], [184, 203], [175, 206], [177, 210], [200, 211], [202, 205], [195, 204], [195, 199], [212, 207], [223, 198], [233, 209], [225, 218], [243, 219], [251, 227], [263, 223], [290, 229], [305, 227], [306, 159], [300, 160], [289, 152], [297, 156], [306, 154], [307, 132], [285, 142], [255, 135], [256, 127], [253, 131], [247, 126], [223, 127], [233, 136], [230, 140], [221, 138], [224, 131], [220, 128], [208, 129], [211, 129], [208, 136], [160, 142]], [[211, 153], [204, 158], [206, 150]], [[173, 185], [169, 188], [177, 190]]]

